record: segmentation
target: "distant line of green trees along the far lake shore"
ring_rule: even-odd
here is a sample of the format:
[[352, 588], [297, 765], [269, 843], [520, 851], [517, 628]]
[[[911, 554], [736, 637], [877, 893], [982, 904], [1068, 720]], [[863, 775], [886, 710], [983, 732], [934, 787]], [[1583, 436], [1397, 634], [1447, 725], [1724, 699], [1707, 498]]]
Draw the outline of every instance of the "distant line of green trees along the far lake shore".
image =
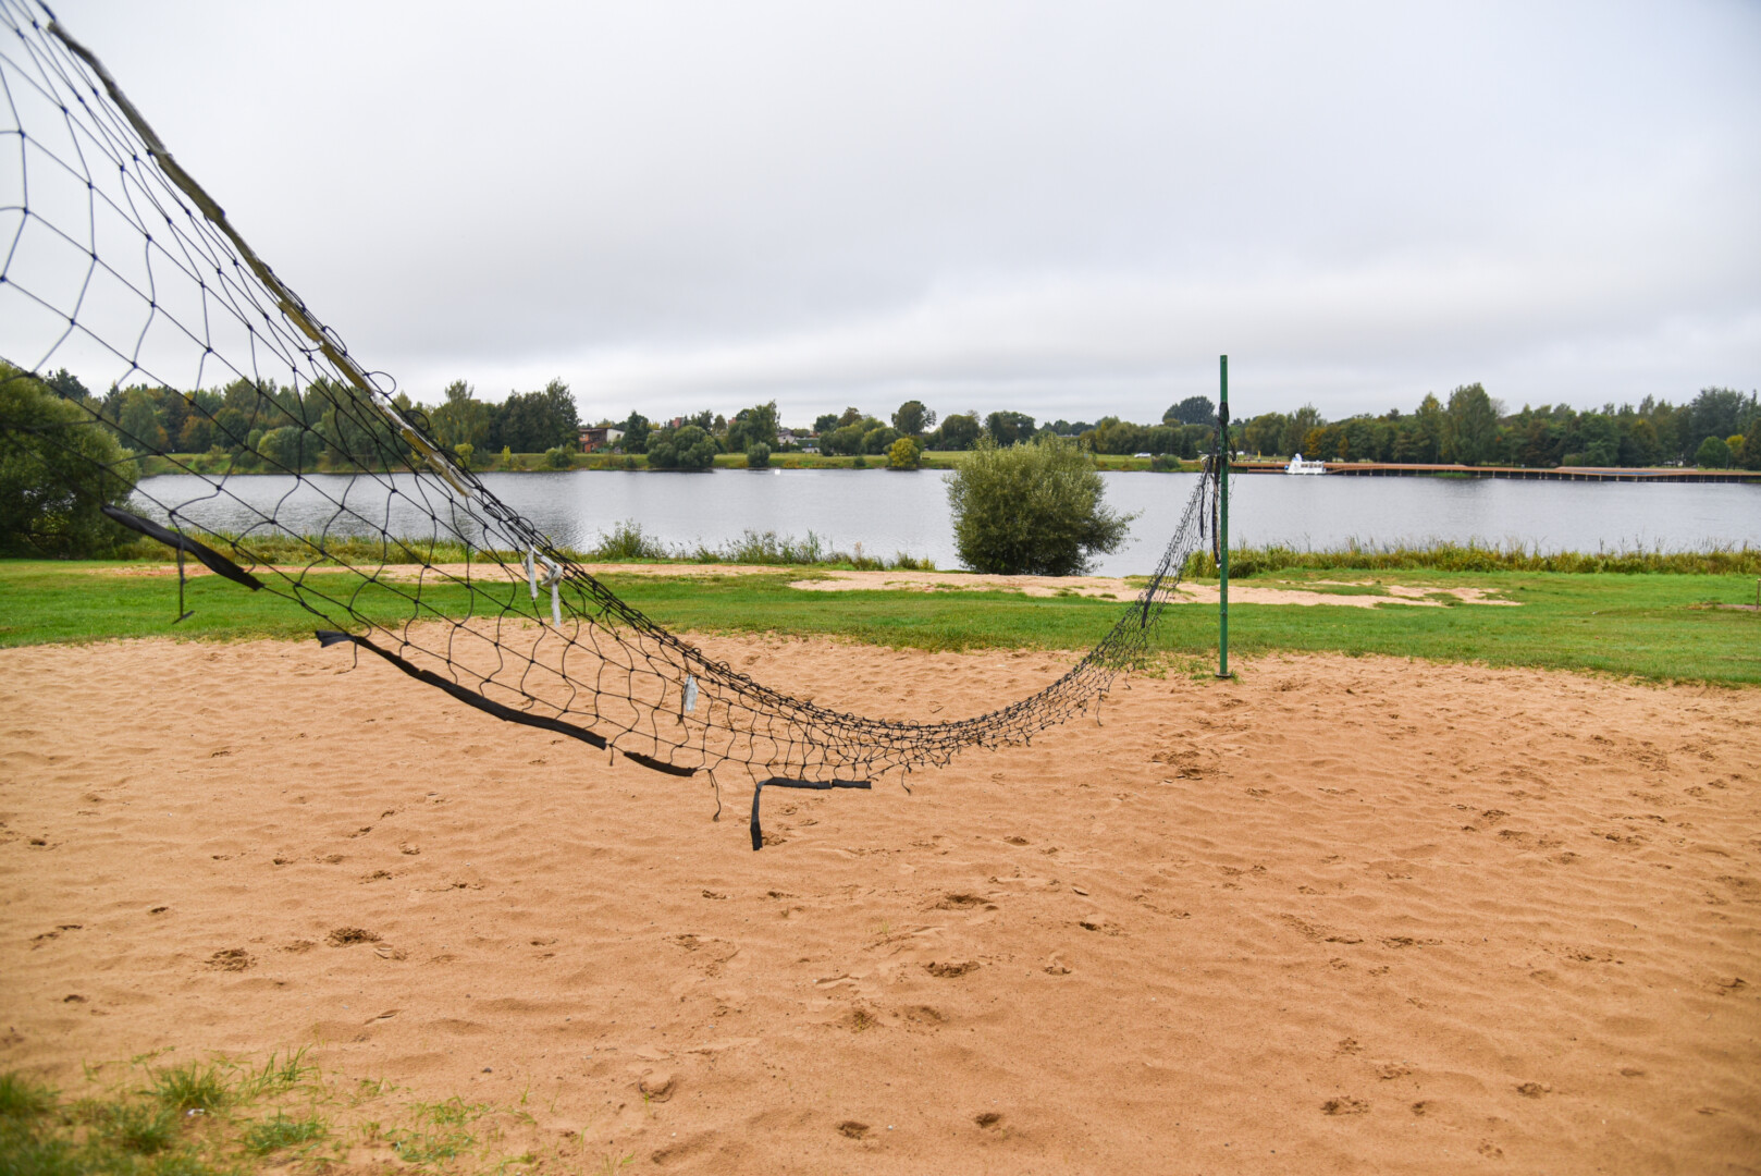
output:
[[[69, 372], [44, 377], [58, 395], [90, 402], [125, 444], [148, 451], [225, 457], [234, 469], [322, 469], [382, 460], [372, 414], [347, 411], [357, 393], [331, 381], [305, 390], [236, 379], [217, 390], [178, 391], [132, 384], [93, 397]], [[569, 384], [553, 379], [537, 391], [512, 391], [502, 402], [479, 400], [465, 381], [451, 383], [437, 406], [396, 404], [426, 416], [437, 441], [467, 465], [488, 465], [490, 455], [548, 453], [565, 467], [579, 450], [581, 420]], [[676, 421], [676, 423], [674, 423]], [[778, 450], [815, 444], [828, 455], [875, 455], [895, 467], [916, 467], [923, 451], [965, 451], [981, 437], [998, 446], [1057, 435], [1092, 453], [1194, 458], [1217, 435], [1210, 397], [1171, 404], [1159, 421], [1118, 416], [1099, 421], [1039, 423], [1018, 411], [937, 413], [905, 400], [886, 420], [847, 407], [824, 413], [812, 428], [780, 439], [777, 402], [755, 404], [733, 418], [711, 411], [650, 421], [630, 413], [615, 446], [645, 453], [653, 469], [708, 469], [718, 453], [745, 453], [768, 464]], [[1419, 462], [1463, 465], [1701, 465], [1761, 469], [1761, 400], [1756, 393], [1705, 388], [1680, 406], [1647, 397], [1638, 406], [1573, 409], [1544, 404], [1507, 413], [1474, 383], [1446, 398], [1426, 393], [1414, 411], [1389, 409], [1326, 420], [1312, 404], [1294, 413], [1261, 413], [1234, 425], [1240, 453], [1351, 462]]]

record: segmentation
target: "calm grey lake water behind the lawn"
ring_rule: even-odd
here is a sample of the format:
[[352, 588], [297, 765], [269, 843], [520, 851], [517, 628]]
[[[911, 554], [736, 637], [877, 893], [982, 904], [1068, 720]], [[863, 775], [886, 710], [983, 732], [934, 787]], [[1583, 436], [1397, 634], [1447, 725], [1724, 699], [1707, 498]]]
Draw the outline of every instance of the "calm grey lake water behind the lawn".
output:
[[[741, 531], [775, 531], [831, 547], [858, 543], [870, 555], [928, 555], [958, 568], [942, 473], [858, 469], [722, 469], [706, 474], [578, 471], [483, 474], [504, 502], [565, 547], [592, 547], [622, 520], [636, 520], [666, 543], [711, 547]], [[1106, 575], [1148, 571], [1173, 531], [1197, 474], [1101, 474], [1108, 502], [1136, 511], [1131, 541], [1097, 561]], [[387, 518], [386, 492], [363, 478], [238, 476], [227, 488], [298, 531], [319, 531], [343, 497], [363, 515]], [[405, 480], [407, 481], [407, 480]], [[1731, 483], [1634, 485], [1620, 481], [1502, 481], [1456, 478], [1233, 480], [1231, 543], [1340, 547], [1426, 540], [1523, 543], [1541, 550], [1643, 547], [1692, 550], [1705, 545], [1761, 547], [1761, 487]], [[257, 518], [227, 499], [210, 499], [201, 478], [148, 478], [141, 488], [160, 502], [190, 502], [183, 515], [208, 527], [241, 531]], [[322, 490], [322, 494], [319, 494]], [[206, 499], [206, 501], [197, 501]], [[162, 515], [160, 515], [162, 518]], [[419, 534], [412, 513], [393, 504], [389, 527]], [[365, 529], [363, 529], [365, 531]]]

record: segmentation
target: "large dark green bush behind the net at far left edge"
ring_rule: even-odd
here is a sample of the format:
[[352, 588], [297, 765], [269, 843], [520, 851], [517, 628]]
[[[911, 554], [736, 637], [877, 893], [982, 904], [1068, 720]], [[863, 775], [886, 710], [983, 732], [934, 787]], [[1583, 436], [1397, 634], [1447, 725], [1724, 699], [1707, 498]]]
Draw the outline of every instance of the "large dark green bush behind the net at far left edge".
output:
[[130, 532], [100, 508], [129, 501], [130, 473], [79, 402], [0, 361], [0, 554], [109, 555]]

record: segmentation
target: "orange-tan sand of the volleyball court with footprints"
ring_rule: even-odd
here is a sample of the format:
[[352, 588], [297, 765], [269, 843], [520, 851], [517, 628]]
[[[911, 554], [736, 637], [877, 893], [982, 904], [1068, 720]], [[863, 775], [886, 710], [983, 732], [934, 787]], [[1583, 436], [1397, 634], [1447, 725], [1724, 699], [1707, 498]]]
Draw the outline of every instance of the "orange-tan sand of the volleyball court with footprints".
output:
[[[1062, 668], [711, 651], [898, 716]], [[711, 823], [703, 783], [347, 663], [0, 651], [0, 1067], [315, 1040], [410, 1097], [530, 1091], [532, 1146], [630, 1171], [1761, 1157], [1761, 691], [1136, 679], [914, 795], [771, 795], [752, 853], [740, 786]], [[208, 966], [229, 949], [252, 966]]]

